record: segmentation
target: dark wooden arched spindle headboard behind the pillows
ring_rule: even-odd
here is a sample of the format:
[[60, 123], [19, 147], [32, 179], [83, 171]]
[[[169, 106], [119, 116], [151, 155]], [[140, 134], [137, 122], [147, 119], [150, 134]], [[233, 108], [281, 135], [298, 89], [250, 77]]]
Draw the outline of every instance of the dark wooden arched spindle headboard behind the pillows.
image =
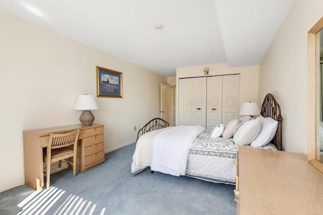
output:
[[283, 117], [281, 115], [281, 107], [276, 101], [275, 97], [268, 93], [262, 102], [260, 114], [263, 117], [271, 117], [278, 121], [276, 135], [274, 137], [274, 141], [272, 142], [278, 150], [283, 150]]

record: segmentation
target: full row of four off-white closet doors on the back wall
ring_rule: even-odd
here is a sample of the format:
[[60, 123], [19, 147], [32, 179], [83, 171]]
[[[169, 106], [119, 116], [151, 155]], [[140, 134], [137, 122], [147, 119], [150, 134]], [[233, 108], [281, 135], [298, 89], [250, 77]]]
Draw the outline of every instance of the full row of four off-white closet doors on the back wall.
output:
[[240, 75], [179, 80], [178, 125], [212, 130], [238, 118]]

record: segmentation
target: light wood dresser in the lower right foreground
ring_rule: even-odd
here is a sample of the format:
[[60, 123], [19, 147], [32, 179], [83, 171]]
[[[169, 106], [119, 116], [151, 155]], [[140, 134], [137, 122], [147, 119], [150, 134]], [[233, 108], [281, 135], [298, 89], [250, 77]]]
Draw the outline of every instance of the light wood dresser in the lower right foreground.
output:
[[298, 153], [239, 147], [237, 214], [323, 214], [323, 174]]

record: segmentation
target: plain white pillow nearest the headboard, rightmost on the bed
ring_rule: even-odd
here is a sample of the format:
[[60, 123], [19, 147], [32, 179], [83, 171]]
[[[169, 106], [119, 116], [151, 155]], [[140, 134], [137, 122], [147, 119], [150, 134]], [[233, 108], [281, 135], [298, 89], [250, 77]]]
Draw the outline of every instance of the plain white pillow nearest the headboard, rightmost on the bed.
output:
[[251, 142], [252, 147], [263, 147], [267, 145], [275, 136], [278, 126], [278, 121], [271, 117], [263, 118], [258, 116], [257, 119], [261, 120], [261, 130], [259, 135]]

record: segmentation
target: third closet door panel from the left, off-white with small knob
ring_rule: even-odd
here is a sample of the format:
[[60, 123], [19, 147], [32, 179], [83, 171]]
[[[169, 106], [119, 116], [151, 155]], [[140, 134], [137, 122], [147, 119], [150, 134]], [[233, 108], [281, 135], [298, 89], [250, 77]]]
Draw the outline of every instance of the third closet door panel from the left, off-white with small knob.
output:
[[207, 77], [206, 130], [222, 124], [222, 76]]

